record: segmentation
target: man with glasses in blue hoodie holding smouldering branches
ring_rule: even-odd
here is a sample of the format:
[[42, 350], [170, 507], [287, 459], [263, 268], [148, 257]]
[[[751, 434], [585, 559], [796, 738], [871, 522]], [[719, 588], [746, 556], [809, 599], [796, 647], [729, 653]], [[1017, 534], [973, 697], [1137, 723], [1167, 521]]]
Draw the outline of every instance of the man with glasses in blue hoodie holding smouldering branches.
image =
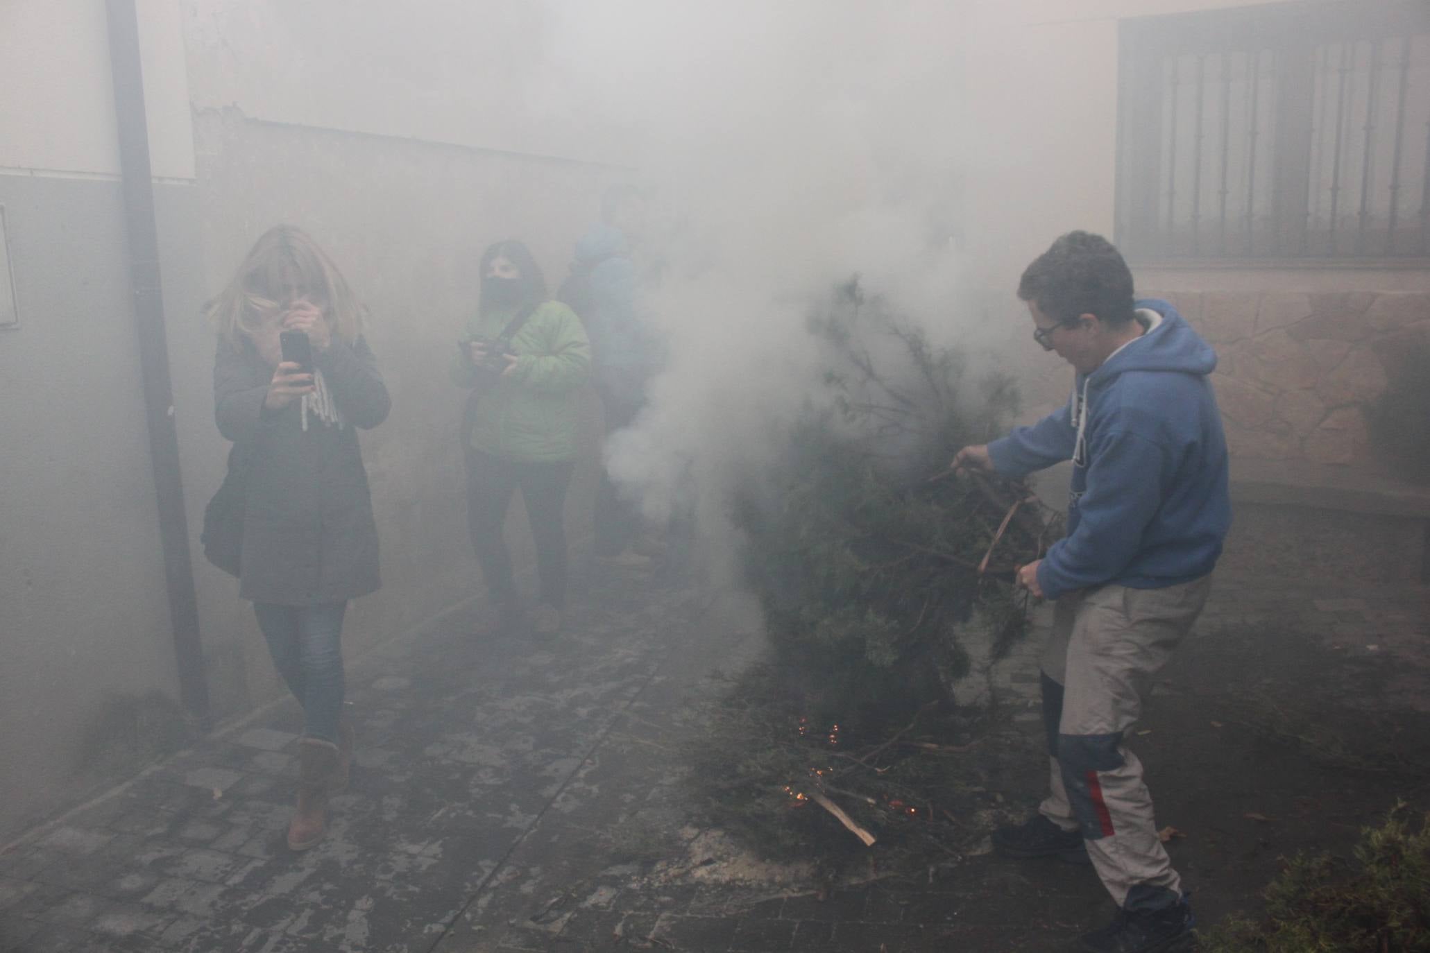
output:
[[1091, 859], [1120, 912], [1081, 939], [1097, 953], [1174, 949], [1191, 907], [1157, 837], [1143, 767], [1124, 744], [1143, 697], [1205, 603], [1231, 523], [1211, 347], [1161, 300], [1133, 299], [1105, 239], [1072, 231], [1018, 286], [1032, 337], [1077, 370], [1065, 407], [957, 469], [1024, 476], [1072, 460], [1067, 536], [1018, 582], [1057, 600], [1044, 650], [1051, 793], [994, 844], [1014, 857]]

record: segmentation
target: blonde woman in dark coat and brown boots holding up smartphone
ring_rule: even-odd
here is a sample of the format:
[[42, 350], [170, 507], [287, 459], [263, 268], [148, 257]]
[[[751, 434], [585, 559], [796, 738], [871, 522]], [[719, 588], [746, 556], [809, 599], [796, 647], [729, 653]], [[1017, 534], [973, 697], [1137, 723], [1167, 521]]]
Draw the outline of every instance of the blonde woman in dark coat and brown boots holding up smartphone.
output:
[[235, 443], [230, 467], [245, 473], [239, 596], [253, 602], [273, 664], [303, 706], [287, 830], [289, 847], [303, 850], [322, 839], [327, 796], [352, 759], [343, 612], [380, 584], [356, 429], [382, 423], [390, 399], [360, 306], [299, 229], [266, 231], [209, 317], [219, 336], [214, 416]]

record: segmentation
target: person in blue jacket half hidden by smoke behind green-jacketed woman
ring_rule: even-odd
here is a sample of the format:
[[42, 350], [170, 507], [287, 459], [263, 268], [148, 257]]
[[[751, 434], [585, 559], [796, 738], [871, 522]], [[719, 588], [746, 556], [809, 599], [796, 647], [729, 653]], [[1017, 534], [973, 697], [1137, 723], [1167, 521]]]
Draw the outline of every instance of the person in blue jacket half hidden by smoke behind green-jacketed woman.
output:
[[[645, 199], [632, 186], [602, 197], [601, 221], [576, 243], [571, 274], [558, 297], [581, 316], [591, 337], [593, 377], [605, 411], [606, 436], [629, 427], [645, 407], [646, 386], [659, 350], [642, 313], [641, 270], [632, 254]], [[595, 554], [601, 562], [641, 569], [664, 543], [641, 533], [639, 509], [601, 471], [595, 507]]]

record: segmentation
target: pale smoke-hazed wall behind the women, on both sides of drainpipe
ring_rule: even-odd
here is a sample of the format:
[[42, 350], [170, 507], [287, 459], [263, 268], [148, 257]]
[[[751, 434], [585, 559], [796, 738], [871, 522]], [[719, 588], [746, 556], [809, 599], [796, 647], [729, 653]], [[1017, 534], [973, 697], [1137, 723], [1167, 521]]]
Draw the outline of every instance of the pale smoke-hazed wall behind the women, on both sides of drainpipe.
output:
[[[362, 652], [476, 590], [463, 394], [443, 370], [475, 304], [472, 263], [519, 236], [559, 281], [612, 170], [573, 161], [599, 150], [518, 94], [542, 97], [511, 53], [536, 43], [533, 4], [137, 1], [202, 633], [214, 712], [230, 717], [282, 689], [236, 583], [197, 547], [227, 449], [202, 301], [260, 231], [293, 221], [372, 307], [395, 410], [363, 437], [386, 584], [349, 614]], [[126, 699], [174, 697], [176, 670], [103, 0], [0, 0], [0, 129], [20, 306], [19, 329], [0, 331], [3, 843], [83, 797], [96, 726]], [[579, 537], [589, 502], [572, 506]]]

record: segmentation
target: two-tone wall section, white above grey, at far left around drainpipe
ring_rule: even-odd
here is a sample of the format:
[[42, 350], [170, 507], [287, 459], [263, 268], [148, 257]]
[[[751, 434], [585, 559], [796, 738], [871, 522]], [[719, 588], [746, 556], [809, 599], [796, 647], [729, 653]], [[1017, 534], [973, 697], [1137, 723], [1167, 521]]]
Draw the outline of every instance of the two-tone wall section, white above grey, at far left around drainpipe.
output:
[[[177, 0], [139, 13], [172, 296], [199, 273], [182, 240], [196, 197], [182, 20]], [[102, 0], [0, 3], [0, 267], [19, 313], [0, 330], [4, 840], [84, 794], [106, 723], [176, 694], [176, 666]]]

